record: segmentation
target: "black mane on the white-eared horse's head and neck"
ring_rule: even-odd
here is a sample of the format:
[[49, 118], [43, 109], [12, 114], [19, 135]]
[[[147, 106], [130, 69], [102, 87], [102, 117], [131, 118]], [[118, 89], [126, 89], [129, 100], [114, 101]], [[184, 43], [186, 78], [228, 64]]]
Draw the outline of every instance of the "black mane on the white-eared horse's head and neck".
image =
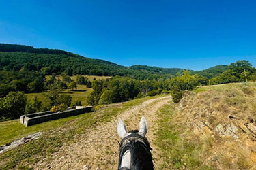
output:
[[[154, 164], [152, 161], [152, 154], [150, 152], [150, 143], [145, 137], [137, 134], [137, 130], [130, 131], [132, 135], [136, 135], [143, 139], [144, 143], [140, 141], [130, 140], [124, 147], [121, 148], [119, 154], [119, 166], [122, 162], [122, 156], [126, 150], [130, 151], [131, 154], [131, 167], [130, 170], [154, 170]], [[130, 136], [130, 135], [129, 135]], [[120, 167], [119, 167], [120, 168]]]

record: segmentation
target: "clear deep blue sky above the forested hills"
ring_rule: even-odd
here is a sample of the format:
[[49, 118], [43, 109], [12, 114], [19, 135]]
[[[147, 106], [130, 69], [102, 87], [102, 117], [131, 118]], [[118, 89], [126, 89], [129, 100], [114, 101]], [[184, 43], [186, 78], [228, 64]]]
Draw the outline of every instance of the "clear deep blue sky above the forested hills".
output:
[[256, 1], [0, 1], [0, 42], [119, 65], [256, 64]]

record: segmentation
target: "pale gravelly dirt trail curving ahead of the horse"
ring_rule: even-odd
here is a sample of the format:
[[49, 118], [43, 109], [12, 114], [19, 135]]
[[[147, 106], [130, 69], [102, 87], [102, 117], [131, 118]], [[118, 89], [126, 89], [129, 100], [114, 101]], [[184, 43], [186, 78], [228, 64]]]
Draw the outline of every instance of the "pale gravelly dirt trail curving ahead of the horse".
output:
[[[45, 165], [46, 161], [35, 165], [35, 169], [117, 169], [119, 145], [117, 139], [117, 120], [122, 118], [126, 123], [126, 129], [138, 129], [141, 115], [147, 118], [149, 131], [147, 138], [153, 148], [153, 157], [156, 158], [155, 166], [158, 169], [160, 158], [156, 154], [157, 148], [154, 146], [154, 130], [156, 126], [156, 112], [162, 105], [165, 105], [171, 97], [158, 97], [149, 99], [139, 105], [118, 114], [111, 122], [100, 124], [89, 131], [87, 134], [80, 136], [76, 143], [64, 145], [58, 152], [51, 155], [51, 163]], [[157, 151], [158, 152], [158, 151]]]

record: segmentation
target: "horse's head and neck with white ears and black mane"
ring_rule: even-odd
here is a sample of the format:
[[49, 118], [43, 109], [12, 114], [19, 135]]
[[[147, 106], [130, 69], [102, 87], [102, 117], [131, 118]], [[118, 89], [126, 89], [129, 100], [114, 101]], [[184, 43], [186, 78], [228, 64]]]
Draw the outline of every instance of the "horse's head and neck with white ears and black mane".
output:
[[139, 130], [126, 132], [126, 126], [121, 119], [117, 123], [117, 133], [122, 138], [119, 153], [119, 170], [151, 170], [154, 169], [150, 143], [145, 137], [147, 120], [144, 116], [139, 122]]

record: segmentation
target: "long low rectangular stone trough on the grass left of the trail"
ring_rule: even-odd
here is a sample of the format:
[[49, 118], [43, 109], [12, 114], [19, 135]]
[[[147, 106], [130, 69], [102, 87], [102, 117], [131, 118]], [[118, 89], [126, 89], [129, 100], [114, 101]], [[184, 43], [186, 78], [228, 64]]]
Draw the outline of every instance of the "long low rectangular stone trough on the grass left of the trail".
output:
[[74, 107], [68, 107], [67, 110], [63, 112], [38, 112], [34, 114], [26, 114], [23, 116], [20, 116], [20, 123], [24, 124], [24, 126], [31, 126], [33, 124], [39, 124], [42, 122], [47, 122], [49, 120], [56, 120], [59, 118], [66, 118], [68, 116], [75, 116], [79, 114], [84, 114], [87, 112], [92, 112], [92, 106], [74, 106]]

